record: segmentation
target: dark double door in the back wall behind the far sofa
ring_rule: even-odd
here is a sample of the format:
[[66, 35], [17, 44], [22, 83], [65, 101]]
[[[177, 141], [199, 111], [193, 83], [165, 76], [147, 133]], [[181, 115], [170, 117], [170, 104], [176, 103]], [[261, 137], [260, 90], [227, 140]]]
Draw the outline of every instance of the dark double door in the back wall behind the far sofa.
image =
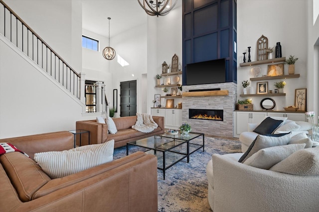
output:
[[120, 83], [120, 117], [136, 115], [136, 80]]

